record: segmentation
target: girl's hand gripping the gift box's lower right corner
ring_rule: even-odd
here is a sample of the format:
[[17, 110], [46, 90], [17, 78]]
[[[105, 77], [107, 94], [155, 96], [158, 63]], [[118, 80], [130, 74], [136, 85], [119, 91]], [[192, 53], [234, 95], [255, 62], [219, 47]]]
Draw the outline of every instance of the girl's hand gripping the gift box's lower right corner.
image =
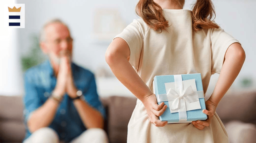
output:
[[207, 110], [203, 110], [203, 113], [207, 114], [207, 119], [205, 121], [202, 120], [197, 120], [197, 121], [193, 121], [192, 124], [199, 130], [204, 129], [206, 126], [208, 127], [211, 123], [212, 120], [212, 116], [214, 115], [215, 111], [216, 111], [216, 107], [217, 105], [214, 104], [210, 99], [208, 99], [205, 102], [205, 106]]

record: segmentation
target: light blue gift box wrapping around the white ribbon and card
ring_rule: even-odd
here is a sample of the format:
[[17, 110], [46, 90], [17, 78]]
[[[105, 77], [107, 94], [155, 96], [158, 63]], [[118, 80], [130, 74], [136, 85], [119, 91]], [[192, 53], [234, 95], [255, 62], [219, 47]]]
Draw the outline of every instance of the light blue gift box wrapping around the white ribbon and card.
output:
[[[203, 84], [201, 79], [201, 73], [182, 74], [181, 77], [182, 77], [182, 82], [189, 79], [195, 79], [197, 91], [203, 94]], [[158, 97], [160, 95], [167, 94], [168, 92], [166, 91], [165, 83], [171, 83], [171, 82], [175, 82], [174, 75], [158, 75], [154, 77], [153, 89], [154, 89], [154, 94], [156, 94], [157, 96], [158, 104], [162, 103], [158, 101]], [[196, 120], [206, 120], [207, 115], [202, 112], [203, 109], [206, 109], [205, 98], [203, 97], [203, 95], [199, 96], [199, 102], [201, 105], [201, 109], [186, 111], [187, 119], [186, 121], [183, 121], [179, 119], [179, 112], [171, 113], [168, 101], [164, 101], [165, 105], [167, 105], [167, 109], [161, 116], [159, 116], [159, 120], [167, 121], [168, 123], [190, 123]]]

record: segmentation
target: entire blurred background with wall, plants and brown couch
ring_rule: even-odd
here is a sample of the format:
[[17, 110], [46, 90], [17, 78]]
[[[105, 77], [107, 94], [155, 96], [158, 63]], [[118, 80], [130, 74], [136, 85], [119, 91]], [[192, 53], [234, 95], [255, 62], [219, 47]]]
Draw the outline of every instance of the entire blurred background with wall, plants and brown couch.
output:
[[[191, 10], [196, 0], [185, 0]], [[256, 16], [255, 0], [212, 0], [215, 22], [242, 44], [243, 67], [222, 98], [216, 112], [231, 143], [256, 142]], [[39, 32], [46, 21], [60, 18], [71, 31], [73, 61], [96, 76], [98, 94], [107, 109], [105, 129], [111, 143], [126, 142], [127, 124], [136, 98], [112, 74], [105, 51], [112, 38], [139, 18], [138, 0], [0, 0], [0, 142], [21, 142], [24, 138], [23, 73], [47, 57], [39, 47]], [[25, 4], [25, 28], [4, 28], [2, 10], [7, 3]], [[211, 77], [206, 99], [218, 80]]]

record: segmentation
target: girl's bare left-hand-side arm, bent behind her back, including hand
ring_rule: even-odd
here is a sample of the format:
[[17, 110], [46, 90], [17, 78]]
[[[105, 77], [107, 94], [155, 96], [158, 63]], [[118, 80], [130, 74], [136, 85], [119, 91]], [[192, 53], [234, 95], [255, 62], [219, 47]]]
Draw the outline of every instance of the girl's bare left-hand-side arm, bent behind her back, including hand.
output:
[[167, 122], [161, 122], [157, 116], [161, 116], [167, 106], [164, 103], [158, 105], [156, 96], [139, 77], [129, 63], [130, 49], [122, 38], [115, 38], [109, 45], [105, 59], [117, 79], [125, 85], [144, 104], [150, 121], [156, 126], [164, 126]]

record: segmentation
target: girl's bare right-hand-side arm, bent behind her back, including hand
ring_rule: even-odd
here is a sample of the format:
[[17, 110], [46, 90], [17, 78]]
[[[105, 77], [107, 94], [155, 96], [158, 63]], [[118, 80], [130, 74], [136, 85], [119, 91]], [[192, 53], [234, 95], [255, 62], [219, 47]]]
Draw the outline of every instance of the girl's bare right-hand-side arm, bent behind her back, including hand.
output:
[[245, 61], [245, 52], [239, 43], [231, 44], [225, 54], [224, 63], [222, 65], [220, 76], [216, 83], [210, 98], [205, 102], [207, 110], [203, 110], [208, 115], [206, 121], [193, 121], [193, 125], [198, 129], [203, 129], [210, 125], [211, 118], [215, 113], [216, 107], [224, 94], [228, 91], [238, 73], [240, 72]]

